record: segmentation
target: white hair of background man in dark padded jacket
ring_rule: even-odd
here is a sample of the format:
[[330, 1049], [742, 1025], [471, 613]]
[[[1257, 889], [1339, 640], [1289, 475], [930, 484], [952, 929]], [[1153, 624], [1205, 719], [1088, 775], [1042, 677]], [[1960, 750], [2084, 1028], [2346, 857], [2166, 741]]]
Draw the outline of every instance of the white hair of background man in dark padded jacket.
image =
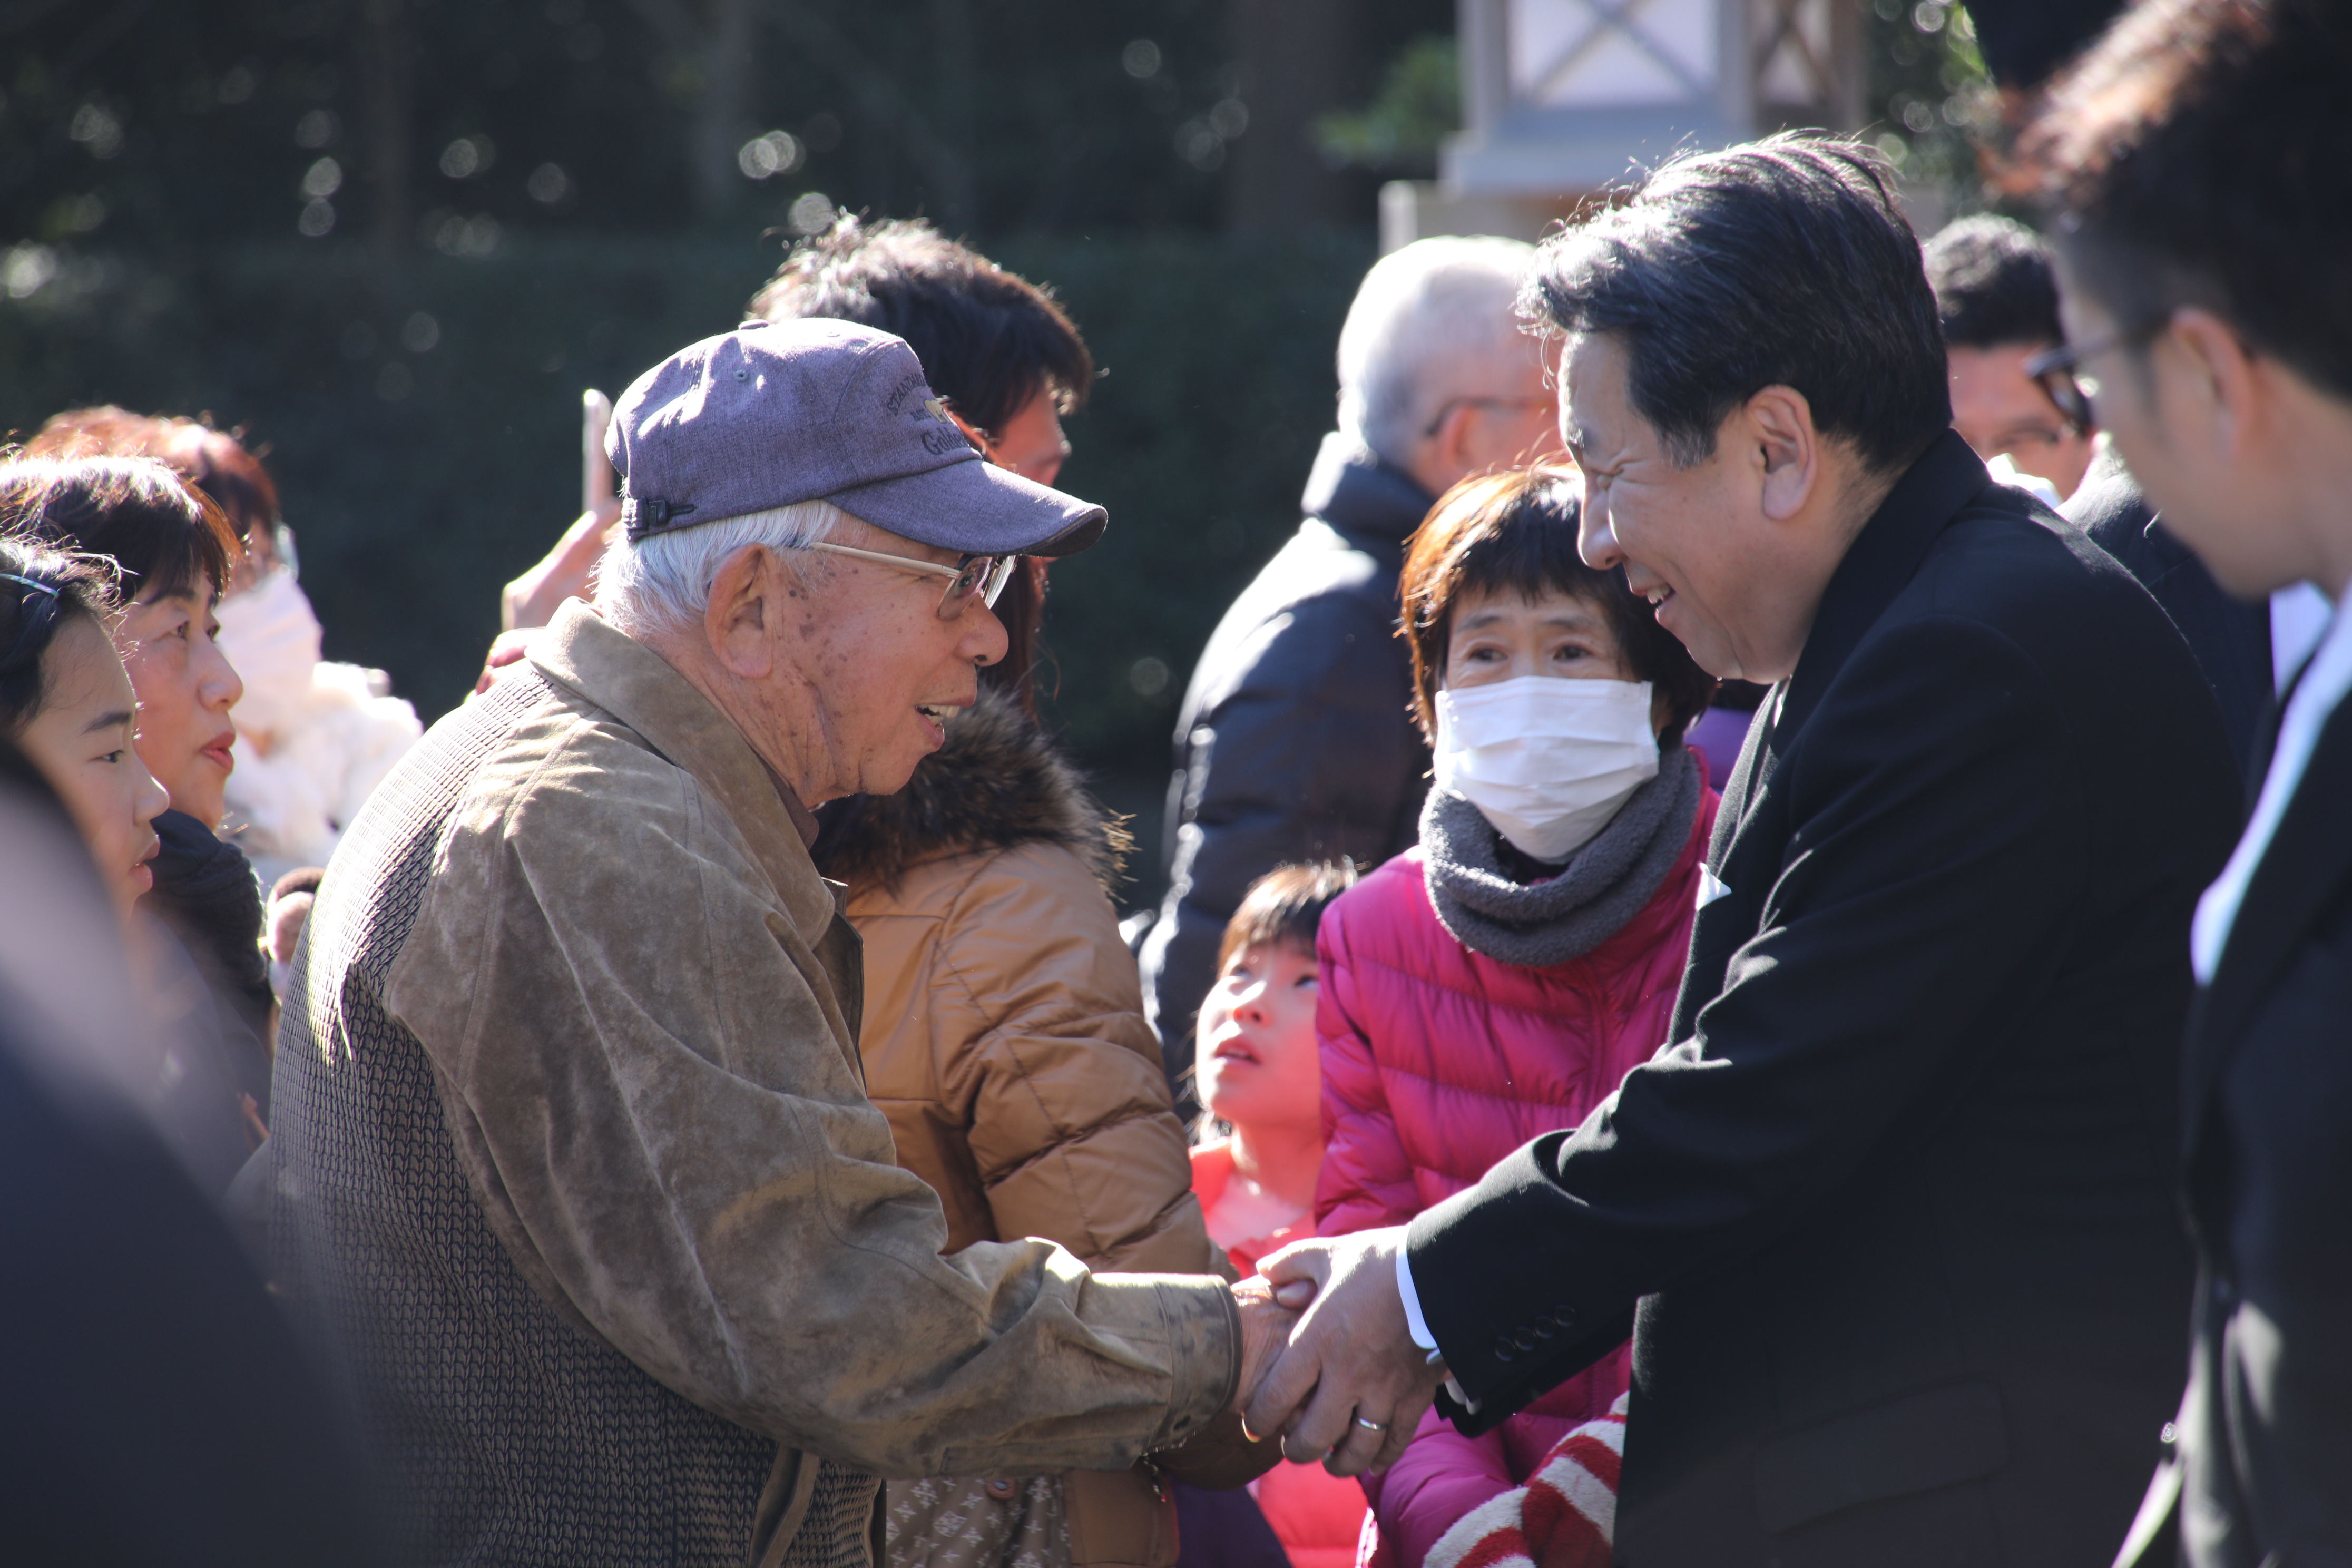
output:
[[1444, 400], [1491, 393], [1496, 360], [1524, 348], [1512, 301], [1534, 259], [1534, 244], [1496, 235], [1381, 256], [1338, 329], [1338, 428], [1404, 463]]

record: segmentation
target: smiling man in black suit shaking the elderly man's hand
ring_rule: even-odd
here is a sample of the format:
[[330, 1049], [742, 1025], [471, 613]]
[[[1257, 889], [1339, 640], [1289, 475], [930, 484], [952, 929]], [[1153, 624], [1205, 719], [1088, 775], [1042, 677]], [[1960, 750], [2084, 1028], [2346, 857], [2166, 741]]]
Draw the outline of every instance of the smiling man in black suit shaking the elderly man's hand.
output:
[[1566, 334], [1585, 559], [1773, 689], [1670, 1041], [1402, 1232], [1284, 1253], [1319, 1295], [1251, 1427], [1357, 1472], [1442, 1373], [1475, 1432], [1630, 1328], [1621, 1563], [2103, 1568], [2187, 1328], [2187, 922], [2241, 799], [2213, 696], [1947, 428], [1865, 150], [1682, 158], [1524, 299]]

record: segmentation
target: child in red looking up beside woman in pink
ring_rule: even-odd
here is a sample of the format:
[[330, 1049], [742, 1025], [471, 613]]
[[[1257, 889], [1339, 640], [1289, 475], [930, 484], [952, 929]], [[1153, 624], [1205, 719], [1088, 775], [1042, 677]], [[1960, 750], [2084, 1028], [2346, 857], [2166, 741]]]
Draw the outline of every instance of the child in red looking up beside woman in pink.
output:
[[[1322, 1070], [1315, 1044], [1315, 924], [1355, 882], [1348, 865], [1258, 877], [1225, 926], [1216, 987], [1200, 1009], [1200, 1103], [1225, 1138], [1192, 1150], [1209, 1239], [1242, 1274], [1315, 1234]], [[1251, 1483], [1291, 1568], [1350, 1568], [1364, 1493], [1319, 1465], [1277, 1465]], [[1190, 1568], [1190, 1554], [1183, 1563]]]

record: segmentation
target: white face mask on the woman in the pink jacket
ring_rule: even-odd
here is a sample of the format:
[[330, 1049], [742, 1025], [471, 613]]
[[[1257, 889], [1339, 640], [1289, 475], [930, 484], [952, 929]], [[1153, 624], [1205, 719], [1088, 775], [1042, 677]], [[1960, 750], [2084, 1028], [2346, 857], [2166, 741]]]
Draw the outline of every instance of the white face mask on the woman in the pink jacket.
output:
[[1649, 682], [1522, 675], [1437, 693], [1437, 788], [1559, 863], [1658, 776]]

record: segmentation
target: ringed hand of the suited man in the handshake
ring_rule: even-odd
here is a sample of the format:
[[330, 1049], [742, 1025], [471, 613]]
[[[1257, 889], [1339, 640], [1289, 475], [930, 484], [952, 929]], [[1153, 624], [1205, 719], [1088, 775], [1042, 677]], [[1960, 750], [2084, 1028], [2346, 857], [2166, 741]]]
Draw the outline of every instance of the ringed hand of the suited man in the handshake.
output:
[[1402, 1227], [1367, 1229], [1298, 1241], [1258, 1265], [1277, 1291], [1315, 1286], [1242, 1413], [1251, 1432], [1279, 1429], [1282, 1450], [1301, 1465], [1324, 1460], [1334, 1476], [1395, 1465], [1444, 1382], [1404, 1326], [1402, 1246]]

